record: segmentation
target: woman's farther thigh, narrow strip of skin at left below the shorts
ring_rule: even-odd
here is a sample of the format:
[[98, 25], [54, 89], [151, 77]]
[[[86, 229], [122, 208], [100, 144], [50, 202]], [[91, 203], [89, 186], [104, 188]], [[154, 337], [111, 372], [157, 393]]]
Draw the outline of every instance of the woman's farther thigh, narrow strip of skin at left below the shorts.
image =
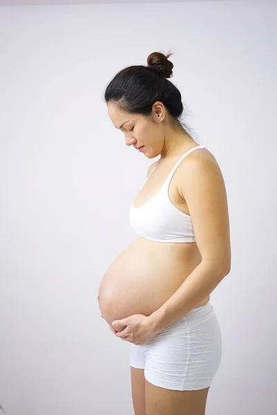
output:
[[131, 367], [131, 386], [135, 415], [146, 415], [144, 369]]

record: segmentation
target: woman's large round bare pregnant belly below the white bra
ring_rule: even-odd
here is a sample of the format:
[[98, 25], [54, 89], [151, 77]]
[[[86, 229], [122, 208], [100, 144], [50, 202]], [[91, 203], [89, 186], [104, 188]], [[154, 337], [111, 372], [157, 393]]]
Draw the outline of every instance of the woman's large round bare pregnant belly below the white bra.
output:
[[99, 309], [106, 322], [151, 315], [160, 308], [200, 262], [196, 250], [195, 243], [161, 246], [136, 239], [115, 259], [99, 286]]

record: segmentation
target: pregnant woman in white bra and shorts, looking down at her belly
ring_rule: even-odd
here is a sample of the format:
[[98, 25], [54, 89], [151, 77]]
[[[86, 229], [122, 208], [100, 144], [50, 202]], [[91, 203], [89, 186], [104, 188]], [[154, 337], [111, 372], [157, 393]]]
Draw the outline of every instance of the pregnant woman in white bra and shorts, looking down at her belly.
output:
[[[154, 52], [108, 84], [108, 116], [151, 159], [135, 197], [133, 241], [99, 286], [102, 317], [130, 343], [135, 415], [204, 415], [220, 365], [220, 326], [210, 294], [230, 272], [225, 182], [209, 149], [180, 121], [173, 64]], [[132, 172], [126, 172], [128, 176]]]

